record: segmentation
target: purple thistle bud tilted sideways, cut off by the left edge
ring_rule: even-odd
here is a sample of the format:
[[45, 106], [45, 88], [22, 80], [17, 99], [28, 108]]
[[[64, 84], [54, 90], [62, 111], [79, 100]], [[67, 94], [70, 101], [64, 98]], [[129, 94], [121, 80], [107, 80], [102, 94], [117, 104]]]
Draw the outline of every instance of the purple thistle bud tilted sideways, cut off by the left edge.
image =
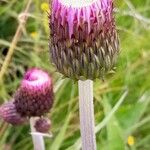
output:
[[26, 118], [17, 112], [14, 101], [7, 102], [0, 106], [0, 118], [12, 125], [22, 125], [27, 121]]

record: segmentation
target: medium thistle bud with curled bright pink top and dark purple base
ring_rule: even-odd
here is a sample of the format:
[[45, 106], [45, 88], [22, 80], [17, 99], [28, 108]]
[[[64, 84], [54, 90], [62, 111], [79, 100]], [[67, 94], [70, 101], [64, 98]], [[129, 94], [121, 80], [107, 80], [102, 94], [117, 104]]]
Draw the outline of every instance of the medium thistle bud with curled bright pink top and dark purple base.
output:
[[51, 78], [40, 69], [27, 71], [14, 99], [17, 112], [22, 116], [42, 116], [53, 104]]

